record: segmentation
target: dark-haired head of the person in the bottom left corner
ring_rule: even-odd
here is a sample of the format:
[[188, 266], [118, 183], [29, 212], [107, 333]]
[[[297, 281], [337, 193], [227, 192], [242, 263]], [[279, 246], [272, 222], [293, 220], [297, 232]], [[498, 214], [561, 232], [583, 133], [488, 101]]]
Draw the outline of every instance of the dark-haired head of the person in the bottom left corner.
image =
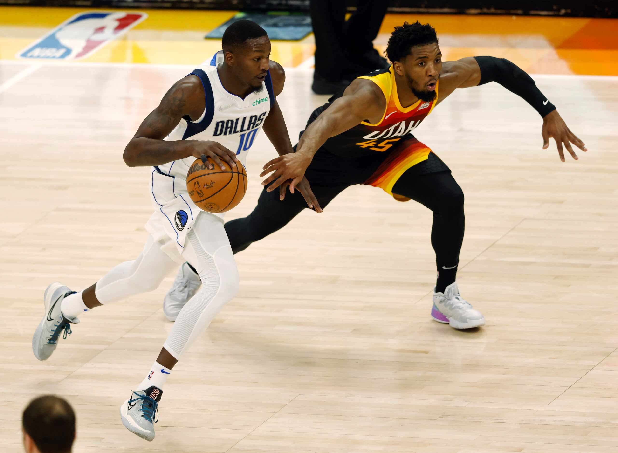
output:
[[23, 410], [23, 431], [41, 453], [69, 453], [75, 440], [75, 412], [57, 396], [33, 399]]

